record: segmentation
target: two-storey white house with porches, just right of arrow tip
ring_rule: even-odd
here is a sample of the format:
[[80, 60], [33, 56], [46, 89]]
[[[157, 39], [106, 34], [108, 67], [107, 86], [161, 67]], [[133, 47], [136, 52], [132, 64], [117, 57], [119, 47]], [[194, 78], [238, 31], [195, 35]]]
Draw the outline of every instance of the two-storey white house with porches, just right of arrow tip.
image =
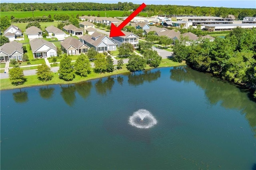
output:
[[131, 32], [126, 32], [122, 31], [125, 36], [118, 36], [118, 37], [113, 37], [112, 40], [120, 46], [122, 43], [131, 43], [134, 48], [138, 47], [139, 44], [139, 36], [131, 33]]

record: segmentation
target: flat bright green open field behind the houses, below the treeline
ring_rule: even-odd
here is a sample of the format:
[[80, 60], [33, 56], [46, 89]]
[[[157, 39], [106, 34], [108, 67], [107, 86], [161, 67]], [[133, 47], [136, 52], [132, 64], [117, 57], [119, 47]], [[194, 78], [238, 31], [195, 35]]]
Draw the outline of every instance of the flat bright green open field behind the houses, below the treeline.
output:
[[[106, 13], [105, 13], [106, 12]], [[100, 16], [106, 16], [106, 17], [115, 17], [115, 16], [122, 16], [124, 11], [118, 11], [118, 10], [112, 10], [112, 11], [34, 11], [34, 17], [36, 16], [48, 16], [49, 14], [54, 16], [54, 14], [68, 14], [71, 16], [73, 14], [76, 16], [76, 14], [79, 14], [82, 16], [90, 14], [91, 16], [94, 14], [97, 16], [100, 14]], [[106, 14], [106, 15], [105, 15]], [[142, 16], [147, 16], [146, 12], [140, 12]], [[15, 18], [25, 18], [25, 17], [33, 17], [32, 11], [4, 11], [1, 12], [1, 16], [8, 16], [10, 18], [11, 16], [14, 16]]]

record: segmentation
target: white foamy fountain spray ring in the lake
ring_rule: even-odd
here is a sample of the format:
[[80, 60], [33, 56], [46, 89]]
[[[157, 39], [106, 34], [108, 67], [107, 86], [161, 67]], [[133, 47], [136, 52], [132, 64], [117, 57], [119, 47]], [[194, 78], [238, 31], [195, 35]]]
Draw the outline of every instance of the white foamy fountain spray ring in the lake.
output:
[[[146, 121], [144, 119], [147, 118]], [[140, 119], [141, 121], [138, 121]], [[137, 128], [151, 128], [156, 125], [157, 121], [154, 116], [145, 109], [139, 109], [129, 118], [129, 124]]]

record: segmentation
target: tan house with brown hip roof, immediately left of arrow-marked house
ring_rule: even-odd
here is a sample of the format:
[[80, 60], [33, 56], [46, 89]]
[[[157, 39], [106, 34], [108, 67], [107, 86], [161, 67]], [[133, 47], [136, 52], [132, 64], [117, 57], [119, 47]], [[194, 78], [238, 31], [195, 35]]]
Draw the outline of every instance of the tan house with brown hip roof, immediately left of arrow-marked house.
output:
[[60, 43], [60, 46], [62, 51], [68, 55], [80, 55], [81, 53], [86, 53], [89, 49], [87, 45], [73, 37], [66, 38]]

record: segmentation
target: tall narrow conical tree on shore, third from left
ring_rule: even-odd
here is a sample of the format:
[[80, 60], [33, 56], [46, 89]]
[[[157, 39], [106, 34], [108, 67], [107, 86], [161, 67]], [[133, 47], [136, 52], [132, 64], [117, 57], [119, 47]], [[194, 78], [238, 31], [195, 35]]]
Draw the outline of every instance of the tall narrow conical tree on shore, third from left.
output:
[[71, 81], [75, 78], [74, 70], [71, 65], [71, 58], [64, 54], [60, 60], [59, 78], [65, 81]]

